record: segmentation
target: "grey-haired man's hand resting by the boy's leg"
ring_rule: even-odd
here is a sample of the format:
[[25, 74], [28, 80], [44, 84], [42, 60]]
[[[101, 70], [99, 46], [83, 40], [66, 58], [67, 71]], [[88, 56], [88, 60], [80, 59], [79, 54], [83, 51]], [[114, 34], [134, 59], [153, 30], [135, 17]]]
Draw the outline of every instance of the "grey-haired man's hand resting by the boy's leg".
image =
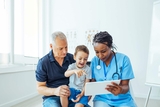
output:
[[64, 96], [68, 97], [68, 96], [70, 96], [69, 87], [67, 85], [61, 85], [61, 86], [57, 87], [54, 90], [54, 95], [61, 96], [61, 97], [64, 97]]

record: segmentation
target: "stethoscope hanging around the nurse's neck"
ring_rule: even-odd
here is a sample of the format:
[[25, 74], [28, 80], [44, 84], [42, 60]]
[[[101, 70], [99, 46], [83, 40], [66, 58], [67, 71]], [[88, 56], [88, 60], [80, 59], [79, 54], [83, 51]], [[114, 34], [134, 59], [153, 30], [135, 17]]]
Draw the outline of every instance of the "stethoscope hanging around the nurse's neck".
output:
[[[113, 54], [114, 54], [114, 56], [115, 56], [115, 63], [116, 63], [116, 72], [115, 73], [113, 73], [113, 75], [112, 75], [112, 79], [115, 79], [115, 77], [117, 77], [118, 79], [120, 79], [120, 75], [119, 75], [119, 73], [118, 73], [118, 65], [117, 65], [117, 57], [116, 57], [116, 55], [115, 55], [115, 52], [114, 51], [112, 51], [113, 52]], [[96, 67], [98, 70], [100, 70], [101, 69], [101, 66], [100, 66], [100, 59], [98, 60], [98, 65], [97, 65], [97, 67]]]

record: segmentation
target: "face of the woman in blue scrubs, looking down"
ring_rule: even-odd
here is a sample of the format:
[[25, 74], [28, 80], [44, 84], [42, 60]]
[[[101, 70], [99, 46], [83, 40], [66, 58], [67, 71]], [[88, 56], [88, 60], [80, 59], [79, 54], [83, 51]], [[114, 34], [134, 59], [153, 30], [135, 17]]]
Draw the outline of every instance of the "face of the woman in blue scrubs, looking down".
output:
[[93, 46], [94, 46], [96, 56], [100, 60], [106, 62], [111, 54], [111, 48], [107, 46], [107, 43], [106, 44], [94, 43]]

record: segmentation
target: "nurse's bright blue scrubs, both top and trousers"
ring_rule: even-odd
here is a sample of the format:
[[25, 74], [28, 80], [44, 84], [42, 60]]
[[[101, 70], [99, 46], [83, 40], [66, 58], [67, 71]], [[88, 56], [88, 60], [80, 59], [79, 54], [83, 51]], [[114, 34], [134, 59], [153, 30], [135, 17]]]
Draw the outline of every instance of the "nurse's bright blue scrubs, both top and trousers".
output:
[[[115, 55], [117, 59], [117, 71], [120, 75], [120, 79], [133, 79], [134, 74], [129, 58], [122, 53], [116, 53]], [[101, 66], [100, 69], [97, 69], [98, 64]], [[106, 66], [106, 64], [101, 60], [99, 63], [99, 58], [95, 56], [91, 61], [91, 71], [92, 78], [96, 81], [113, 80], [112, 75], [116, 72], [115, 56], [112, 57], [108, 66]], [[103, 101], [112, 106], [134, 105], [134, 101], [129, 91], [126, 94], [119, 94], [117, 96], [114, 94], [96, 95], [93, 101]]]

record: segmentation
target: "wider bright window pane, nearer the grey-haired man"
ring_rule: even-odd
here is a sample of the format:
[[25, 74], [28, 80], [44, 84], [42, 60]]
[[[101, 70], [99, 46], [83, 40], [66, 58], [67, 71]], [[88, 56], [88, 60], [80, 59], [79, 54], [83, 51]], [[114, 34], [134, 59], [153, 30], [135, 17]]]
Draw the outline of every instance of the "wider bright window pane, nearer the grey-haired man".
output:
[[38, 57], [38, 0], [15, 0], [14, 4], [15, 63], [36, 63], [32, 61]]

